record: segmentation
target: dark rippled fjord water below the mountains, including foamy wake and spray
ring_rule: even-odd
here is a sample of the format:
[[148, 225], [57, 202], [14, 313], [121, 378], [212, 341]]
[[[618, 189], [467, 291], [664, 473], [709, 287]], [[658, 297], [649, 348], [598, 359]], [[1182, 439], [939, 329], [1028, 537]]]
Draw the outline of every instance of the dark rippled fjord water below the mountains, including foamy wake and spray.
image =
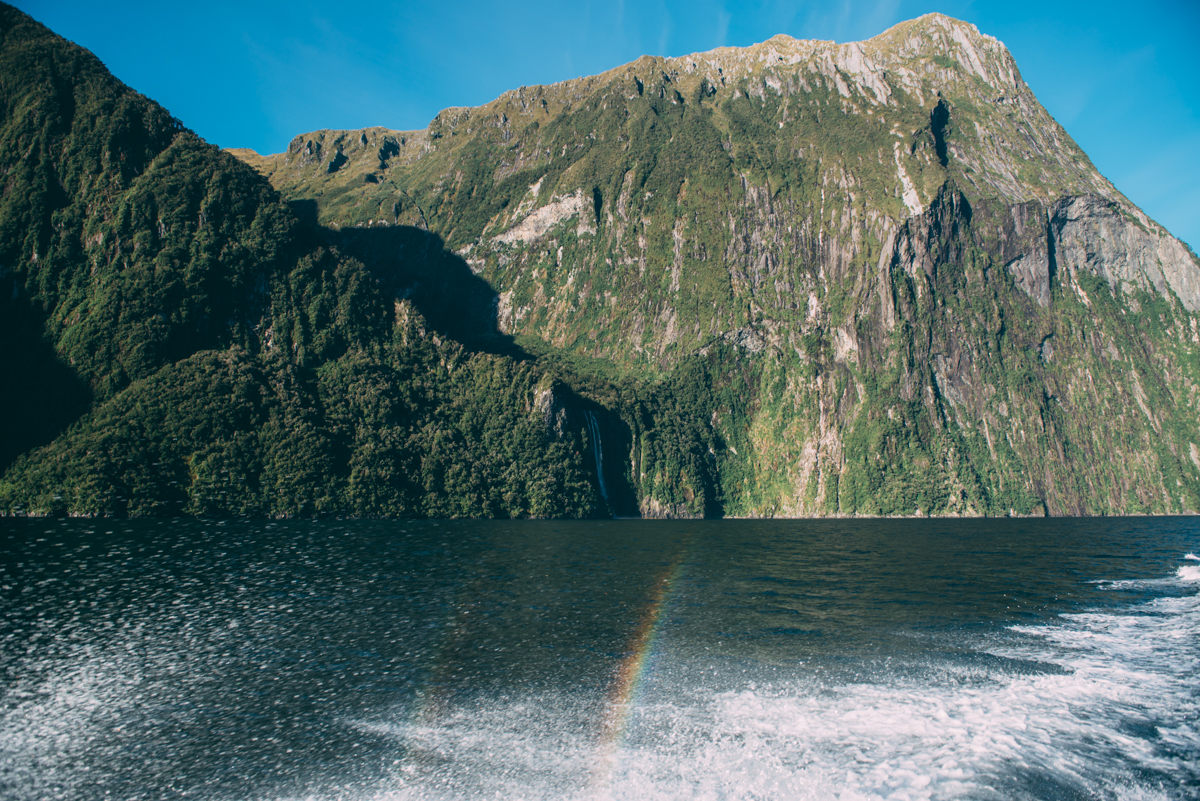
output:
[[1195, 518], [0, 525], [6, 799], [1200, 797]]

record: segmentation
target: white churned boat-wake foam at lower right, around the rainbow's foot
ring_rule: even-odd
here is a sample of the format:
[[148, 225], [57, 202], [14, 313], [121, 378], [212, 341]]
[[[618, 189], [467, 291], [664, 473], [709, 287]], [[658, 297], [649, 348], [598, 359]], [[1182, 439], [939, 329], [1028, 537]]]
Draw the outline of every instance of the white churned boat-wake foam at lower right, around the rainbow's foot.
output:
[[1195, 799], [1198, 634], [1184, 596], [1016, 626], [924, 675], [678, 686], [666, 654], [616, 753], [570, 694], [360, 724], [402, 754], [370, 797]]

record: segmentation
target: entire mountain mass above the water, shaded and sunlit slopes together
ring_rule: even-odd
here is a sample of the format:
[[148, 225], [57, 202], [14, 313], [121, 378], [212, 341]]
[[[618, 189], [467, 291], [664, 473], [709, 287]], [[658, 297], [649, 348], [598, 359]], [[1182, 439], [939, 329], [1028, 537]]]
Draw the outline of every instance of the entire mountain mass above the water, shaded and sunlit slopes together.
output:
[[230, 156], [5, 14], [10, 512], [1200, 510], [1200, 261], [966, 23]]

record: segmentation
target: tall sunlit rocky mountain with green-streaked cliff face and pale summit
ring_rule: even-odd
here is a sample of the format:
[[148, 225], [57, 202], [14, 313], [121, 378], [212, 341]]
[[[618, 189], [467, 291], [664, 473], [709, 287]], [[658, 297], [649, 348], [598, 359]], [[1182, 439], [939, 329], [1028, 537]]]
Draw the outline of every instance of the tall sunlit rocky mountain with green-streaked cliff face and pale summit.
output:
[[443, 236], [532, 354], [659, 392], [703, 362], [691, 462], [613, 404], [646, 513], [1200, 508], [1198, 260], [968, 24], [643, 58], [258, 167], [330, 230]]

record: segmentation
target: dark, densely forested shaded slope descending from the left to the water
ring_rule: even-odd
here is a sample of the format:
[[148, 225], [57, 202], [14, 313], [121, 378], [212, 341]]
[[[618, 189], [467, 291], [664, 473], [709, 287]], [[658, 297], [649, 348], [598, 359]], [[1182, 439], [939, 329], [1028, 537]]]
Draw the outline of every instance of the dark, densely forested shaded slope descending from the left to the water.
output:
[[427, 335], [257, 173], [7, 6], [0, 114], [0, 510], [599, 507], [583, 439], [535, 404], [553, 379]]

